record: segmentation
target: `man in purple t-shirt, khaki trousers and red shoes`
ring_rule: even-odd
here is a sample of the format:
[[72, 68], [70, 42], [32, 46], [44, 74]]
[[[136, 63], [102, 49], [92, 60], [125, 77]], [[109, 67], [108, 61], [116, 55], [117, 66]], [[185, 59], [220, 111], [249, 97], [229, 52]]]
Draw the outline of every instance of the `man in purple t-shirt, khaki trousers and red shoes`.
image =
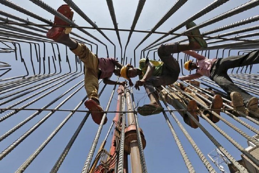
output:
[[[72, 20], [73, 11], [68, 5], [61, 5], [58, 8], [58, 12], [66, 16], [68, 19]], [[64, 25], [63, 27], [52, 27], [48, 33], [47, 37], [54, 40], [55, 42], [64, 44], [70, 48], [70, 50], [75, 53], [79, 59], [84, 63], [85, 66], [85, 90], [88, 96], [88, 100], [85, 101], [85, 106], [92, 112], [92, 118], [95, 123], [100, 124], [103, 116], [102, 107], [100, 106], [98, 98], [98, 79], [103, 79], [105, 84], [119, 84], [124, 85], [126, 82], [116, 82], [109, 78], [113, 73], [117, 76], [120, 75], [120, 70], [123, 67], [115, 58], [98, 58], [96, 54], [91, 52], [84, 44], [78, 43], [69, 37], [71, 28], [69, 24], [55, 16], [54, 25]], [[118, 67], [118, 68], [115, 68]], [[133, 85], [133, 84], [132, 84]], [[104, 124], [107, 122], [107, 118], [104, 120]]]

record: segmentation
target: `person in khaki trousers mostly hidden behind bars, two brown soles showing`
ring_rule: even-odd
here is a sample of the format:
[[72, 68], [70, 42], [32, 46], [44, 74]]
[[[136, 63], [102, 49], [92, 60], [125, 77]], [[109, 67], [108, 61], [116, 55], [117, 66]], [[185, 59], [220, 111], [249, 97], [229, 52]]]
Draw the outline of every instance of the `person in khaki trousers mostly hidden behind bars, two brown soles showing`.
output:
[[[195, 84], [196, 86], [199, 86], [199, 82], [197, 81], [189, 81], [192, 84]], [[199, 101], [201, 104], [208, 106], [210, 109], [215, 109], [214, 112], [216, 112], [218, 115], [220, 115], [220, 108], [223, 106], [223, 99], [220, 95], [216, 94], [214, 95], [213, 99], [211, 100], [212, 103], [208, 103], [203, 101], [200, 97], [198, 97], [194, 92], [184, 87], [182, 84], [174, 83], [176, 84], [182, 91], [185, 91], [186, 94], [193, 97], [195, 100], [190, 99], [188, 96], [184, 95], [181, 91], [177, 90], [174, 85], [170, 85], [173, 89], [173, 91], [169, 88], [167, 88], [167, 91], [165, 89], [161, 90], [162, 98], [170, 105], [172, 105], [175, 109], [182, 109], [182, 107], [179, 105], [181, 104], [185, 109], [192, 110], [189, 111], [191, 115], [199, 121], [199, 117], [197, 116], [197, 113], [201, 116], [201, 114], [207, 116], [213, 123], [217, 123], [219, 121], [219, 118], [216, 117], [214, 114], [212, 114], [209, 110], [204, 111], [197, 111], [197, 103], [196, 101]], [[190, 86], [190, 88], [192, 88]], [[193, 88], [192, 88], [193, 89]], [[195, 90], [195, 89], [193, 89]], [[210, 91], [210, 89], [206, 89], [207, 91]], [[202, 94], [202, 92], [196, 91], [199, 94]], [[212, 91], [213, 92], [213, 91]], [[176, 94], [177, 93], [177, 94]], [[214, 93], [213, 93], [214, 94]], [[206, 97], [208, 98], [208, 97]], [[200, 105], [198, 105], [199, 109], [204, 109]], [[186, 114], [185, 111], [178, 111], [179, 114], [183, 117], [184, 122], [189, 125], [190, 127], [196, 129], [198, 128], [198, 125], [189, 118], [189, 116]]]

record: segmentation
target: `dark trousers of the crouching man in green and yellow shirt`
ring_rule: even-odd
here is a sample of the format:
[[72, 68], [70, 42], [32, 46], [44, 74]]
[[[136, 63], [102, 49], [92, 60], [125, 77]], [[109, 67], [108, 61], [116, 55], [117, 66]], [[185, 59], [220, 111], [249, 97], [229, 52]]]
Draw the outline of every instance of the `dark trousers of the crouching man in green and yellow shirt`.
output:
[[156, 92], [156, 87], [173, 84], [177, 81], [180, 74], [179, 63], [172, 56], [172, 53], [179, 53], [178, 44], [162, 44], [159, 46], [157, 53], [164, 63], [162, 74], [160, 76], [152, 76], [145, 82], [144, 87], [148, 95]]

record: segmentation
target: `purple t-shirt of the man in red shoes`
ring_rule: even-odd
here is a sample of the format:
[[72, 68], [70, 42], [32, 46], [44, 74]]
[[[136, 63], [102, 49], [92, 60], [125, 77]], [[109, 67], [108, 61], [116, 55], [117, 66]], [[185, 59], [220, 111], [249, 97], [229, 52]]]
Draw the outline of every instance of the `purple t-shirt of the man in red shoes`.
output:
[[102, 71], [100, 79], [109, 78], [115, 69], [115, 58], [99, 58], [98, 69]]

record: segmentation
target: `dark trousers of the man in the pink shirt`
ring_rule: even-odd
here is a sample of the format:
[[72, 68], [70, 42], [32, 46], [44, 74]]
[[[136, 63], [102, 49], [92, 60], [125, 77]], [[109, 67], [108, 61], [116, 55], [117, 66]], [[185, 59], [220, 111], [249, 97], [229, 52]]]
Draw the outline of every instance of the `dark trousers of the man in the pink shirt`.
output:
[[243, 97], [244, 103], [247, 103], [253, 96], [233, 83], [227, 74], [228, 69], [242, 67], [259, 63], [259, 50], [254, 50], [245, 55], [221, 58], [215, 61], [210, 78], [216, 82], [228, 95], [236, 91]]

